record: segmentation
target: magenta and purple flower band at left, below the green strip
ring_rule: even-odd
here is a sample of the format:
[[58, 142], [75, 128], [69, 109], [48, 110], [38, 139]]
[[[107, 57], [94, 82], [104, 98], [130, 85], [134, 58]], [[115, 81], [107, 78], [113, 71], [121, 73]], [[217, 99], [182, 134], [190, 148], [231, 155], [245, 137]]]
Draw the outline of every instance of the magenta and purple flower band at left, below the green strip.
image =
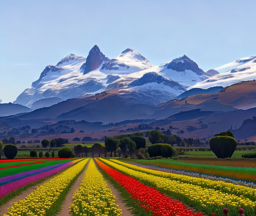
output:
[[[30, 176], [27, 176], [25, 178], [18, 179], [18, 180], [15, 180], [13, 182], [1, 185], [0, 186], [0, 198], [4, 197], [5, 195], [9, 194], [10, 192], [15, 191], [18, 188], [23, 187], [23, 186], [25, 186], [29, 183], [32, 183], [34, 181], [38, 181], [40, 179], [43, 179], [43, 178], [46, 178], [48, 176], [54, 175], [55, 173], [60, 172], [61, 170], [67, 168], [72, 163], [73, 163], [72, 161], [69, 161], [69, 162], [63, 163], [63, 164], [61, 164], [60, 166], [57, 166], [57, 167], [56, 167], [56, 165], [54, 165], [54, 168], [52, 168], [50, 170], [48, 170], [47, 167], [46, 167], [46, 169], [40, 168], [40, 169], [35, 169], [35, 170], [32, 170], [32, 171], [28, 171], [28, 172], [23, 172], [23, 173], [14, 174], [14, 175], [11, 175], [11, 176], [2, 177], [1, 180], [4, 181], [4, 180], [8, 179], [8, 177], [15, 179], [15, 178], [22, 177], [22, 174], [25, 175], [25, 176], [28, 175], [28, 174], [29, 175], [31, 174]], [[59, 164], [57, 164], [57, 165], [59, 165]], [[41, 170], [41, 171], [39, 171], [39, 173], [38, 173], [38, 170]], [[34, 175], [33, 175], [33, 173], [34, 173]]]

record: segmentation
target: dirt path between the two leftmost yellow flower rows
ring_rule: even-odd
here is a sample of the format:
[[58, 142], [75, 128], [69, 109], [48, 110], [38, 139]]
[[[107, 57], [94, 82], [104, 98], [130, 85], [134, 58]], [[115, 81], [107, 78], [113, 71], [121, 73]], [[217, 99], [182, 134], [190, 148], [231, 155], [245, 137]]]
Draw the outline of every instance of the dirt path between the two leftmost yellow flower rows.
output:
[[68, 193], [65, 197], [65, 200], [62, 203], [61, 210], [60, 210], [60, 212], [58, 212], [57, 216], [70, 216], [70, 214], [69, 214], [69, 205], [73, 203], [73, 195], [74, 195], [75, 191], [80, 187], [80, 184], [82, 183], [82, 180], [84, 178], [84, 175], [85, 175], [85, 172], [87, 170], [87, 167], [88, 167], [88, 164], [89, 164], [90, 160], [91, 159], [89, 159], [87, 161], [83, 172], [76, 179], [75, 183], [73, 184], [73, 186], [68, 191]]

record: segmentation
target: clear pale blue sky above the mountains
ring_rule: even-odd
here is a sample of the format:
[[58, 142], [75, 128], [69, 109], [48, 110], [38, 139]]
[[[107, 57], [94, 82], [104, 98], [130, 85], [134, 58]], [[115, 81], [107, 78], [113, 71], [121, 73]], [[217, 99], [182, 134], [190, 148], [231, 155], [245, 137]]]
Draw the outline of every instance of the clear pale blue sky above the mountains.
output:
[[48, 64], [97, 44], [158, 65], [186, 54], [207, 71], [255, 56], [256, 1], [0, 2], [0, 99], [13, 102]]

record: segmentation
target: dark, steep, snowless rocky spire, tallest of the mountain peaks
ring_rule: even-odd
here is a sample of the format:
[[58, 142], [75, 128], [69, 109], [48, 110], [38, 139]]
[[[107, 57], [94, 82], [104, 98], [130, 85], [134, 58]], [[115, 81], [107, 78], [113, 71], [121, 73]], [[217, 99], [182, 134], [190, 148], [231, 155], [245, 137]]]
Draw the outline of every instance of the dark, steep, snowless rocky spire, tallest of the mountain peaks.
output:
[[81, 69], [84, 69], [84, 74], [89, 73], [90, 71], [94, 71], [99, 68], [103, 62], [108, 61], [107, 58], [97, 45], [90, 50], [89, 55], [86, 58], [86, 63], [81, 66]]

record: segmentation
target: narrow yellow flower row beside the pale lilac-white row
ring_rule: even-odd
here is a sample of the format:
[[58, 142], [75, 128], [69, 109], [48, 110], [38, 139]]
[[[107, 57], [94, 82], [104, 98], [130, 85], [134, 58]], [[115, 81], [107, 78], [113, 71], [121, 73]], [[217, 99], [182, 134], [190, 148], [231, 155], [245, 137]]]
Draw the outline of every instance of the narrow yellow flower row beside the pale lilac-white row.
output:
[[244, 197], [249, 198], [252, 201], [256, 201], [256, 189], [251, 188], [251, 187], [235, 185], [235, 184], [226, 183], [223, 181], [214, 181], [214, 180], [210, 180], [210, 179], [202, 179], [202, 178], [197, 178], [197, 177], [184, 176], [184, 175], [179, 175], [179, 174], [170, 173], [170, 172], [151, 170], [151, 169], [147, 169], [147, 168], [138, 167], [133, 164], [124, 163], [119, 160], [113, 160], [113, 159], [110, 159], [110, 160], [112, 162], [115, 162], [122, 166], [131, 168], [131, 169], [134, 169], [134, 170], [137, 170], [140, 172], [145, 172], [147, 174], [151, 174], [154, 176], [160, 176], [160, 177], [172, 179], [175, 181], [180, 181], [183, 183], [198, 185], [201, 187], [222, 191], [223, 193], [234, 194], [237, 196], [243, 195]]

